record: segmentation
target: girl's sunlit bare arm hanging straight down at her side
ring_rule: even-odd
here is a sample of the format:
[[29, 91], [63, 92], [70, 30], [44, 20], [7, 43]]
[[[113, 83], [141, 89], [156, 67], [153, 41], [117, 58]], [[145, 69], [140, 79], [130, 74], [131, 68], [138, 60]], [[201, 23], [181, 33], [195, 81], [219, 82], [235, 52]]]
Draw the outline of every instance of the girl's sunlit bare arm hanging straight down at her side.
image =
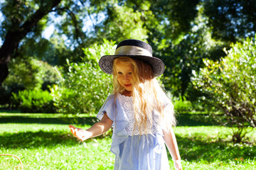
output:
[[174, 160], [175, 169], [181, 170], [181, 156], [178, 152], [178, 144], [176, 141], [176, 137], [174, 134], [174, 130], [170, 130], [169, 132], [164, 132], [164, 142], [166, 143], [167, 148], [171, 154], [171, 157]]

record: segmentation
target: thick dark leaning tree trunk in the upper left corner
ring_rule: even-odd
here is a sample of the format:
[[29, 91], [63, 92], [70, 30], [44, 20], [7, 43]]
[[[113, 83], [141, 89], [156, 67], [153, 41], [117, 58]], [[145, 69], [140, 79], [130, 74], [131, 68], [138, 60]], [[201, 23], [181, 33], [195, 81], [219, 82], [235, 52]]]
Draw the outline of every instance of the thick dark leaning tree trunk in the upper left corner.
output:
[[57, 6], [60, 1], [61, 0], [48, 1], [48, 4], [42, 5], [32, 16], [28, 16], [28, 20], [25, 21], [22, 26], [8, 30], [4, 44], [0, 48], [0, 86], [9, 74], [8, 63], [11, 60], [14, 50], [18, 48], [18, 43], [36, 26], [38, 21], [40, 21], [43, 16], [50, 13], [52, 8]]

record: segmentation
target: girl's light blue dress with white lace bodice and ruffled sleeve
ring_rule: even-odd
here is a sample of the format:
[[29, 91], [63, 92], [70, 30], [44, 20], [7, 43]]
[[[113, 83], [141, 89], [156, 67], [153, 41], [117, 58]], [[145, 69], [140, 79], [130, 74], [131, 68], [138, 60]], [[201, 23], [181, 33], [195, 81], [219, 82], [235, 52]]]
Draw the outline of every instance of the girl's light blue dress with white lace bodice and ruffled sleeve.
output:
[[[132, 97], [117, 94], [107, 98], [97, 114], [102, 119], [104, 114], [113, 121], [111, 152], [116, 156], [114, 170], [168, 170], [169, 162], [163, 139], [163, 131], [157, 124], [157, 114], [153, 112], [153, 126], [148, 135], [139, 135], [134, 129], [134, 109]], [[168, 103], [166, 104], [168, 106]]]

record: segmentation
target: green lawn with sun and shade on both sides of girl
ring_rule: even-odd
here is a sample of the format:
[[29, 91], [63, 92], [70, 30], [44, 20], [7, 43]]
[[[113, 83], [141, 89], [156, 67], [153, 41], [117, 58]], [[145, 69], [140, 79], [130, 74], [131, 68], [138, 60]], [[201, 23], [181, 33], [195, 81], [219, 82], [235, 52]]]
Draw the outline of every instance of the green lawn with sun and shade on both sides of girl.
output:
[[[23, 169], [113, 169], [111, 137], [79, 142], [70, 134], [70, 118], [60, 114], [0, 113], [0, 154], [15, 154]], [[80, 118], [88, 128], [95, 117]], [[230, 128], [214, 125], [206, 115], [181, 114], [174, 129], [183, 169], [256, 169], [256, 130], [250, 142], [233, 145]], [[110, 133], [110, 132], [109, 132]], [[174, 169], [169, 155], [169, 164]], [[18, 159], [1, 156], [0, 169], [20, 169]]]

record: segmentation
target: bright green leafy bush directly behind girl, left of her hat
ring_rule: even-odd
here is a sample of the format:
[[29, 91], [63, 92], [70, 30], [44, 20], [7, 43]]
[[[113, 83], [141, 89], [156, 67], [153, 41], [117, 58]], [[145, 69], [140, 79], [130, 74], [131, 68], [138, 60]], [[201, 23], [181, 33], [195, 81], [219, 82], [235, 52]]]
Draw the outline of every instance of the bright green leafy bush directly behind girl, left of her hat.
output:
[[85, 62], [69, 63], [61, 86], [53, 86], [51, 94], [60, 113], [95, 113], [112, 92], [112, 76], [102, 72], [98, 61], [102, 55], [114, 53], [114, 42], [84, 49]]

